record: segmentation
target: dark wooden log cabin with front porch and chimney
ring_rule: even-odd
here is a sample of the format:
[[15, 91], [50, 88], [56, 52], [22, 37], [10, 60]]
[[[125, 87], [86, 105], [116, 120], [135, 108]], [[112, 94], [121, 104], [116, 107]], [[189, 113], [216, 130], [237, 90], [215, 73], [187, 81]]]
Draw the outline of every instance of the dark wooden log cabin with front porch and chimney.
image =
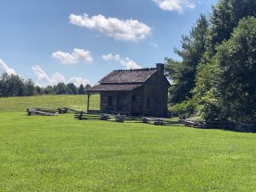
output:
[[166, 117], [169, 81], [164, 64], [154, 68], [114, 70], [88, 90], [89, 96], [100, 94], [102, 113], [125, 113]]

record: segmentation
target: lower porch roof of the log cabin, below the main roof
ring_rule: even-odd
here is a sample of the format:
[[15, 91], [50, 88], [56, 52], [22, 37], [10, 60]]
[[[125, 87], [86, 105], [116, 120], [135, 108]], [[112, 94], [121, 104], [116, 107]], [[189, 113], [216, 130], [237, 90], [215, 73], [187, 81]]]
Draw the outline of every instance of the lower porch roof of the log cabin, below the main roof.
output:
[[116, 91], [116, 90], [135, 90], [138, 87], [143, 86], [143, 84], [97, 84], [90, 88], [90, 92], [97, 91]]

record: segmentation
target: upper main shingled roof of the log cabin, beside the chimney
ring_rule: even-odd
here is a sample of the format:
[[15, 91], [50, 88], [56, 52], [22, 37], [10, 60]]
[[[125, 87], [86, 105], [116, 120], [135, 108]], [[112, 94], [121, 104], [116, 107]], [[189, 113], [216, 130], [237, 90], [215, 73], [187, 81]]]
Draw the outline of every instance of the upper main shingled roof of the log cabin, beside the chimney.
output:
[[143, 83], [156, 73], [156, 68], [115, 70], [102, 78], [100, 84]]

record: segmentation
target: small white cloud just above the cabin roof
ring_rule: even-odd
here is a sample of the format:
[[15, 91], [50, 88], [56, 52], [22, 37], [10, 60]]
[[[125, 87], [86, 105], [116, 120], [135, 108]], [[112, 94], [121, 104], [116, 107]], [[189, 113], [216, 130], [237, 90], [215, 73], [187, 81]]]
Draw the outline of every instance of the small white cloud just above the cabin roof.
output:
[[135, 61], [132, 61], [129, 57], [122, 58], [120, 55], [108, 54], [108, 55], [102, 55], [102, 59], [105, 61], [111, 61], [111, 60], [117, 61], [126, 69], [142, 68]]

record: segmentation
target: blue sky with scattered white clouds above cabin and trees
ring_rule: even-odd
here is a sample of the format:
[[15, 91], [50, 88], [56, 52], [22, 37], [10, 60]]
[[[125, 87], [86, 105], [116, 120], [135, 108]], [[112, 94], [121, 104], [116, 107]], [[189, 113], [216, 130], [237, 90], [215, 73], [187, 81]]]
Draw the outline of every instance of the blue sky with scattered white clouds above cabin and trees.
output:
[[217, 0], [0, 1], [0, 73], [40, 86], [96, 84], [115, 69], [179, 60], [201, 14]]

